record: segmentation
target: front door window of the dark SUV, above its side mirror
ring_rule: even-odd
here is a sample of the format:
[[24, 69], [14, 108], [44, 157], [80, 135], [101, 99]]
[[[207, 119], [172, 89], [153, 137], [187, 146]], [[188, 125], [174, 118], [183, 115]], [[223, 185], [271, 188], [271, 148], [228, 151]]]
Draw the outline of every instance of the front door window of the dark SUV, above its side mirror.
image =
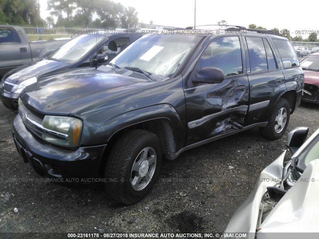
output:
[[239, 38], [220, 37], [209, 43], [198, 60], [199, 69], [207, 66], [222, 69], [225, 76], [243, 74]]

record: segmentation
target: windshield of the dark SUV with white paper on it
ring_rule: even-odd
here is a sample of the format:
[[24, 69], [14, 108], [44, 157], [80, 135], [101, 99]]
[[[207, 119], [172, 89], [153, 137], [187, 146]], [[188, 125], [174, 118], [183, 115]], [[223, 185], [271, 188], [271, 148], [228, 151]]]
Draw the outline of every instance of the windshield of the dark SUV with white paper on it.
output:
[[121, 68], [138, 68], [155, 76], [171, 77], [201, 38], [195, 35], [147, 35], [128, 46], [111, 63]]

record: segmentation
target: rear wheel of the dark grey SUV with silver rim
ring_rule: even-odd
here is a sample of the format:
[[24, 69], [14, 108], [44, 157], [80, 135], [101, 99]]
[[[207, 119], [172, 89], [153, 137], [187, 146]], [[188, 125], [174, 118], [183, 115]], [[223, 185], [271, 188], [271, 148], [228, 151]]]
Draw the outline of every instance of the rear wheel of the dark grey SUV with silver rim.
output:
[[259, 128], [261, 136], [275, 140], [281, 138], [286, 132], [290, 119], [290, 105], [286, 99], [280, 98], [273, 110], [266, 127]]

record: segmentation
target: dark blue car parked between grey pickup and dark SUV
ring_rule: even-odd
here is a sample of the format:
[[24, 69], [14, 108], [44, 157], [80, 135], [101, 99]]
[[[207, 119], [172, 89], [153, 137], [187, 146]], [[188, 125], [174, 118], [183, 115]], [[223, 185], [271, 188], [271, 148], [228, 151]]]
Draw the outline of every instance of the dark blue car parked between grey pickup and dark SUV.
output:
[[4, 75], [0, 98], [6, 108], [17, 111], [18, 97], [24, 87], [74, 68], [99, 66], [141, 36], [135, 33], [80, 35], [45, 59], [23, 65]]

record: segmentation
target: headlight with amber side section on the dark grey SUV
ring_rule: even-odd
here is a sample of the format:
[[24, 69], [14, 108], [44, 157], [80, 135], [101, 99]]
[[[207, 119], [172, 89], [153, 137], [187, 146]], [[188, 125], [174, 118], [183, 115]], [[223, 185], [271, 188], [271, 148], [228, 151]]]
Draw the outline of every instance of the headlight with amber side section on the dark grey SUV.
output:
[[47, 131], [42, 139], [60, 146], [75, 148], [79, 146], [83, 122], [81, 119], [62, 116], [45, 116], [42, 127]]

